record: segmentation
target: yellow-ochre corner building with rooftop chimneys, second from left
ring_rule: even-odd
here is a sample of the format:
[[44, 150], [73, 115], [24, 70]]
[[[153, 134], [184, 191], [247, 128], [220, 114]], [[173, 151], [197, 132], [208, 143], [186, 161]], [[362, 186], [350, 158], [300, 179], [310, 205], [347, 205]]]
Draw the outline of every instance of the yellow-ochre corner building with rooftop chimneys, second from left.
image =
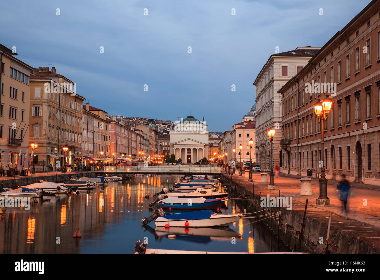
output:
[[[55, 67], [39, 67], [30, 75], [29, 152], [38, 145], [36, 171], [72, 165], [82, 155], [82, 102], [74, 83], [58, 74]], [[63, 147], [68, 148], [67, 152]], [[58, 163], [59, 162], [59, 163]]]

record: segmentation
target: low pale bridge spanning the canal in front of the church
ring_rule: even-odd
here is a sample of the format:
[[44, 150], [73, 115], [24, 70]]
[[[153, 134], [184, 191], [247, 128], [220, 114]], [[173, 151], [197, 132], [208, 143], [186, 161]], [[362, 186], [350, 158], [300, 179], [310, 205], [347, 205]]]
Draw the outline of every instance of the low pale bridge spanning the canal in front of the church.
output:
[[222, 168], [217, 166], [101, 166], [97, 173], [102, 174], [220, 174]]

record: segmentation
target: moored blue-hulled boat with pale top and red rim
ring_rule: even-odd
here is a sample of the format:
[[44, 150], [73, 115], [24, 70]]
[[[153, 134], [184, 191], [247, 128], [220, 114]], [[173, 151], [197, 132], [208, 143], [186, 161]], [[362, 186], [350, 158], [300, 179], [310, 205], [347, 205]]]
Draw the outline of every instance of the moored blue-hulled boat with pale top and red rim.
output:
[[204, 210], [217, 209], [228, 198], [165, 198], [160, 200], [160, 207], [171, 210]]

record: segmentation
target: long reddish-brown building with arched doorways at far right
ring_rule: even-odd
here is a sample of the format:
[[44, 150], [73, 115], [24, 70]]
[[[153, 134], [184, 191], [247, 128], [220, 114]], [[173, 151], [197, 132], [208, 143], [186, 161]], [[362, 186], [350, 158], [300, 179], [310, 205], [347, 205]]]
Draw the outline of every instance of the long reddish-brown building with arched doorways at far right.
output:
[[[345, 174], [349, 181], [380, 185], [379, 15], [380, 1], [372, 1], [279, 90], [288, 101], [282, 145], [275, 150], [282, 172], [306, 176], [310, 169], [318, 177], [323, 153], [327, 179]], [[334, 103], [321, 151], [313, 106], [325, 94]]]

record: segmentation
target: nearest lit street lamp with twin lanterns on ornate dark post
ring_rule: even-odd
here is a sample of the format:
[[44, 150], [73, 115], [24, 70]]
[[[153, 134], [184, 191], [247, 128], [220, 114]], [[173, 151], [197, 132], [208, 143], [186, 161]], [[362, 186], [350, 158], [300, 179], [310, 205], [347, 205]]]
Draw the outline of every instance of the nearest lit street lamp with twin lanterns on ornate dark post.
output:
[[326, 98], [320, 102], [320, 99], [317, 100], [317, 103], [314, 105], [315, 115], [317, 115], [318, 123], [321, 123], [321, 160], [322, 160], [322, 168], [321, 168], [321, 177], [319, 178], [319, 197], [317, 198], [317, 205], [330, 205], [330, 200], [327, 197], [327, 179], [325, 174], [325, 133], [324, 133], [324, 123], [323, 120], [327, 121], [327, 116], [331, 111], [333, 101], [326, 95]]

